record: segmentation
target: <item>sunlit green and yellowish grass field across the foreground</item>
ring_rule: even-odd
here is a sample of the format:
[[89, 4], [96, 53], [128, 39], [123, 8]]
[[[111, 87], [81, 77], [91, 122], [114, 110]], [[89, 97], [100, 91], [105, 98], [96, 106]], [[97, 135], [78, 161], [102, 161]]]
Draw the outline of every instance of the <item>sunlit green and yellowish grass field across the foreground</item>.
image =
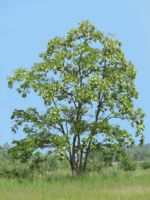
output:
[[49, 180], [0, 179], [0, 200], [149, 200], [150, 170], [107, 170], [73, 180], [51, 176]]

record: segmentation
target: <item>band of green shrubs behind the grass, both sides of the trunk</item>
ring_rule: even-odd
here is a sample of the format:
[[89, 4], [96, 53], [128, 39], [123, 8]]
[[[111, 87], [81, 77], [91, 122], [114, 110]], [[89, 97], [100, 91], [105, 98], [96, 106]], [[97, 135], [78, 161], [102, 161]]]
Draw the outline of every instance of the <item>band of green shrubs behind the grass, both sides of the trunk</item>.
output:
[[[137, 160], [136, 152], [141, 149], [142, 159]], [[39, 177], [51, 178], [51, 175], [71, 175], [67, 160], [60, 159], [54, 152], [37, 152], [23, 162], [15, 159], [11, 154], [11, 147], [4, 145], [0, 147], [0, 178], [38, 179]], [[137, 151], [138, 150], [138, 151]], [[132, 156], [134, 155], [134, 156]], [[117, 157], [110, 148], [104, 146], [93, 150], [89, 155], [87, 173], [101, 174], [104, 169], [117, 169], [123, 171], [135, 171], [138, 169], [149, 169], [150, 146], [135, 146], [126, 151], [124, 157]], [[138, 154], [139, 156], [139, 154]]]

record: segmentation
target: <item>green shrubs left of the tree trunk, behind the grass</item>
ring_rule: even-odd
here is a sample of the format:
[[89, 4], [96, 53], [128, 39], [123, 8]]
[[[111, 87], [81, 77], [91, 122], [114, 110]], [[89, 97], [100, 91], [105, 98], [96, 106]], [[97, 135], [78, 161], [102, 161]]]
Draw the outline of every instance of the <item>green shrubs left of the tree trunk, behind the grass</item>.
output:
[[14, 159], [10, 153], [10, 146], [0, 146], [0, 178], [33, 179], [68, 168], [64, 161], [53, 153], [41, 154], [36, 152], [26, 162], [22, 159]]

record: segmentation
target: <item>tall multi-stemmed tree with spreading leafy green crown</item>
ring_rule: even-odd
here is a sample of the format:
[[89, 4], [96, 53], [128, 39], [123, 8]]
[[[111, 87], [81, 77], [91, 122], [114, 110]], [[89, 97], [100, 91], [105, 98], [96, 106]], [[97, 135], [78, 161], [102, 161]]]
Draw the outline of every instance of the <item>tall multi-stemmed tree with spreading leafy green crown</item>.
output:
[[143, 143], [144, 113], [134, 108], [136, 70], [118, 40], [83, 21], [66, 37], [50, 40], [40, 57], [30, 70], [16, 69], [8, 78], [10, 88], [17, 82], [22, 97], [35, 92], [45, 105], [42, 114], [33, 107], [14, 110], [12, 130], [22, 126], [26, 134], [13, 142], [16, 156], [28, 158], [38, 148], [53, 148], [69, 161], [74, 176], [86, 170], [97, 143], [111, 144], [116, 151], [134, 143], [120, 120], [134, 127]]

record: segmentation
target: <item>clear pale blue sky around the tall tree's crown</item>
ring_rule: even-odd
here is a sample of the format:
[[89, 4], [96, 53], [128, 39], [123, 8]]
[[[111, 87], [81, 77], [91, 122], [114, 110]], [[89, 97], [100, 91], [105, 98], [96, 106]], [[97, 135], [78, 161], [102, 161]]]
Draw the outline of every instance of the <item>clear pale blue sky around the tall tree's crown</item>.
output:
[[54, 36], [64, 36], [89, 19], [104, 33], [115, 33], [126, 57], [138, 71], [136, 85], [145, 118], [145, 142], [150, 143], [150, 0], [0, 0], [0, 144], [22, 134], [11, 133], [15, 108], [40, 107], [35, 96], [22, 99], [7, 87], [6, 77], [17, 67], [38, 62]]

